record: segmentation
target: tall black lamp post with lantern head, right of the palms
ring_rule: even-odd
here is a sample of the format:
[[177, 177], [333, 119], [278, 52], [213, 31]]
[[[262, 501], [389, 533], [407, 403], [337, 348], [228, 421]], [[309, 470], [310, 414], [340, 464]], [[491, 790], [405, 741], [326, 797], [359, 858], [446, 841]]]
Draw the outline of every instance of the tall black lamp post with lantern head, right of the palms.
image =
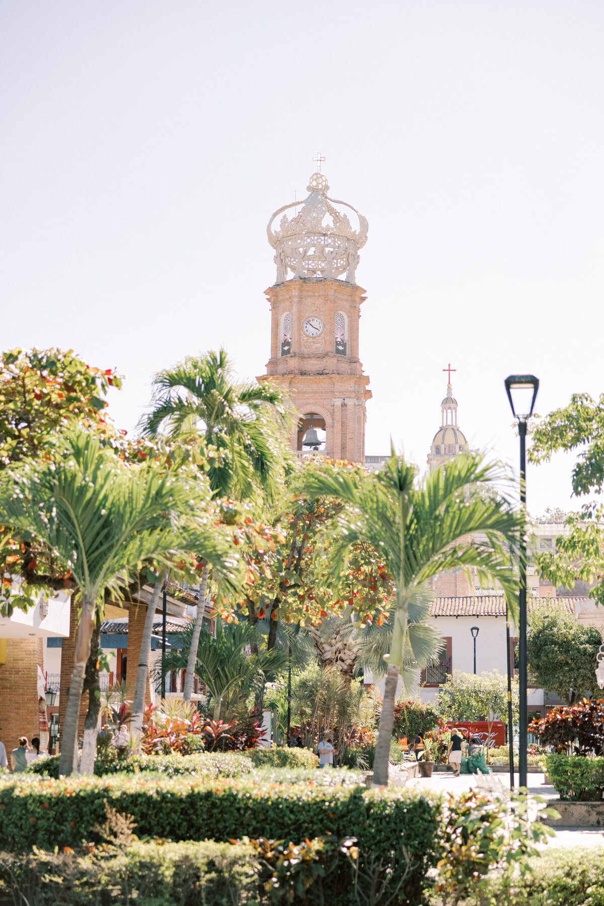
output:
[[[532, 410], [539, 390], [539, 379], [534, 374], [511, 374], [505, 379], [505, 392], [510, 400], [514, 419], [518, 419], [520, 434], [520, 502], [526, 506], [526, 423], [532, 416]], [[520, 692], [520, 727], [518, 738], [518, 783], [526, 786], [526, 747], [528, 744], [528, 708], [527, 708], [527, 668], [526, 668], [526, 535], [520, 535], [520, 589], [518, 593], [519, 639], [518, 639], [518, 679]], [[510, 741], [510, 745], [512, 742]]]

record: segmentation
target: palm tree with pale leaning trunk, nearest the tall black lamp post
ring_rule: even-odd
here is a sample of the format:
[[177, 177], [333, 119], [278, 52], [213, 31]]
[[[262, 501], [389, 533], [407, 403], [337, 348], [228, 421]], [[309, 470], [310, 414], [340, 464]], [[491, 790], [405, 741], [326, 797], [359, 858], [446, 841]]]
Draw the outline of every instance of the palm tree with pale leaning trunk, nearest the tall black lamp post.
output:
[[[388, 784], [388, 756], [398, 678], [408, 689], [417, 668], [436, 657], [440, 642], [425, 623], [409, 632], [411, 599], [417, 588], [443, 570], [474, 566], [481, 584], [500, 583], [514, 608], [516, 583], [511, 549], [517, 548], [522, 521], [503, 498], [483, 500], [472, 485], [492, 482], [499, 468], [484, 465], [468, 454], [417, 480], [417, 468], [392, 448], [384, 470], [364, 476], [359, 469], [343, 470], [326, 464], [306, 477], [309, 494], [337, 497], [349, 506], [340, 514], [340, 541], [332, 551], [332, 574], [340, 579], [350, 545], [367, 541], [388, 564], [397, 583], [394, 626], [388, 654], [384, 702], [374, 764], [374, 784]], [[489, 545], [476, 545], [475, 533]], [[412, 641], [413, 638], [413, 641]]]

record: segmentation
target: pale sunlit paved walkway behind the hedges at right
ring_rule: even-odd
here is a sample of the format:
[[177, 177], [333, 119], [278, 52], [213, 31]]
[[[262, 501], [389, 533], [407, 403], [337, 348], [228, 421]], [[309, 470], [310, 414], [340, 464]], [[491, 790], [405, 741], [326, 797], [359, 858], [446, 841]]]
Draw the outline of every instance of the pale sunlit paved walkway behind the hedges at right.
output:
[[[532, 795], [540, 795], [544, 799], [557, 799], [553, 786], [544, 783], [543, 774], [529, 774], [527, 777], [529, 783], [529, 792]], [[485, 785], [493, 785], [494, 788], [501, 783], [502, 789], [510, 791], [510, 775], [492, 774], [488, 779], [484, 778]], [[514, 775], [514, 783], [518, 786], [518, 775]], [[412, 789], [431, 789], [439, 793], [463, 793], [465, 790], [480, 789], [481, 782], [473, 774], [462, 774], [454, 777], [446, 771], [436, 771], [431, 777], [412, 777], [407, 780], [407, 786]], [[601, 846], [604, 844], [604, 827], [581, 828], [581, 827], [556, 827], [554, 828], [554, 837], [550, 838], [550, 846]]]

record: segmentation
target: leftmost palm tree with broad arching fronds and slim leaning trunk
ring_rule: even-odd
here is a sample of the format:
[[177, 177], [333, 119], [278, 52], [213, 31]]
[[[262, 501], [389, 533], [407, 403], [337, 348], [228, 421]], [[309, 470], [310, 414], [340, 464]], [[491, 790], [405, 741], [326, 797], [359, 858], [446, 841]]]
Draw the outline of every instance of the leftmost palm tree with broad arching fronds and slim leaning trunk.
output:
[[64, 437], [62, 458], [7, 469], [3, 479], [0, 520], [48, 545], [81, 598], [59, 767], [69, 775], [77, 765], [84, 672], [105, 594], [120, 599], [143, 561], [168, 564], [175, 554], [197, 549], [220, 568], [225, 554], [206, 525], [202, 483], [151, 464], [125, 466], [81, 429]]

